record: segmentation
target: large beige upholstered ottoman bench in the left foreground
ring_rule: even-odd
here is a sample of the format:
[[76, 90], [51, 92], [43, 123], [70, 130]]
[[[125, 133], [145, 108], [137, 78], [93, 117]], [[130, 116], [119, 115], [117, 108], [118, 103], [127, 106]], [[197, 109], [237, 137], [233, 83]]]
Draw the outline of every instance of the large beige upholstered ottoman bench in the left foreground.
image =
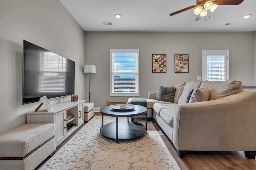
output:
[[55, 153], [55, 124], [29, 123], [0, 134], [0, 170], [33, 170]]

